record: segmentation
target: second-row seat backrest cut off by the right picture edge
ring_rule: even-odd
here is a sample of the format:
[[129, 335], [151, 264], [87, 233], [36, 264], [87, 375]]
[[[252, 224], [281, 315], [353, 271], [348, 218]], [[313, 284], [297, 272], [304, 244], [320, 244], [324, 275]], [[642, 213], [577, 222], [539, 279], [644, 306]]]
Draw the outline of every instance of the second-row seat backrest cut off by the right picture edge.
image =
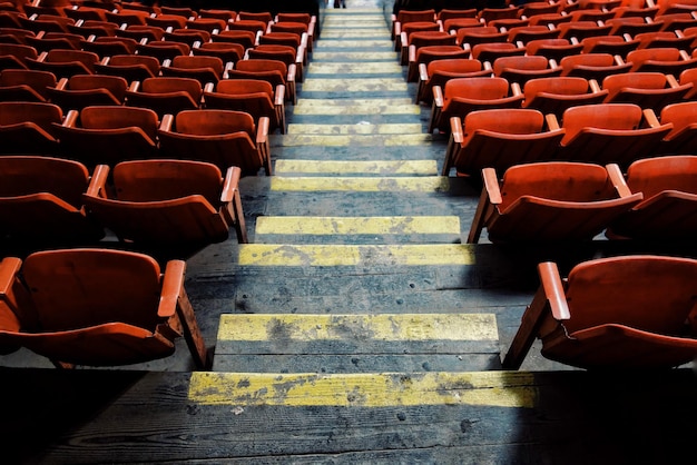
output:
[[697, 194], [697, 156], [645, 158], [627, 168], [627, 186], [648, 199], [665, 190]]

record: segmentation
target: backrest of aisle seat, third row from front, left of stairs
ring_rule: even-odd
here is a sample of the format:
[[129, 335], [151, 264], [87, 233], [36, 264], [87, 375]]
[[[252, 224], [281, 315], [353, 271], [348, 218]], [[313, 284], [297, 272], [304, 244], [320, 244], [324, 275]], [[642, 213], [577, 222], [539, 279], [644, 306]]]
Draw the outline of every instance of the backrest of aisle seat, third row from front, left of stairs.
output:
[[177, 132], [193, 136], [246, 132], [252, 140], [256, 137], [254, 119], [242, 111], [185, 110], [177, 115], [175, 126]]

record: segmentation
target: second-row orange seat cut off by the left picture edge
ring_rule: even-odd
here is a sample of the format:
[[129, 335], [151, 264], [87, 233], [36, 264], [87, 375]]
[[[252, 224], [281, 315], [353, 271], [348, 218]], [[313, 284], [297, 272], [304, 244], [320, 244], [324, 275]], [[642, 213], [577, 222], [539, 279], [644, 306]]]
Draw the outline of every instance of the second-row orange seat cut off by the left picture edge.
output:
[[82, 207], [90, 174], [73, 160], [0, 157], [0, 233], [6, 243], [88, 245], [105, 235]]

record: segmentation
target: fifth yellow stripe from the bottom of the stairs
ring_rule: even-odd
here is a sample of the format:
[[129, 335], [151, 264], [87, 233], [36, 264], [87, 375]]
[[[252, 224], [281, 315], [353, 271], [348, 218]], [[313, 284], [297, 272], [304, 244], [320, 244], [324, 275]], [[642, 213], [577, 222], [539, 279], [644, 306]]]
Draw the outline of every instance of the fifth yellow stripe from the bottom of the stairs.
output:
[[446, 192], [446, 176], [423, 177], [291, 177], [274, 176], [275, 191]]

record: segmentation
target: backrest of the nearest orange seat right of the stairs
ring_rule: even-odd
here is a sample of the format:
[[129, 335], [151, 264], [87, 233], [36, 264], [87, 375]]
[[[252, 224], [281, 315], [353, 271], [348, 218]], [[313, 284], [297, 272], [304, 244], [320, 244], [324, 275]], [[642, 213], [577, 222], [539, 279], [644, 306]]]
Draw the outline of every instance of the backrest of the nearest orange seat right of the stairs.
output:
[[586, 261], [569, 273], [566, 294], [569, 333], [620, 324], [681, 335], [697, 295], [697, 261], [652, 256]]

